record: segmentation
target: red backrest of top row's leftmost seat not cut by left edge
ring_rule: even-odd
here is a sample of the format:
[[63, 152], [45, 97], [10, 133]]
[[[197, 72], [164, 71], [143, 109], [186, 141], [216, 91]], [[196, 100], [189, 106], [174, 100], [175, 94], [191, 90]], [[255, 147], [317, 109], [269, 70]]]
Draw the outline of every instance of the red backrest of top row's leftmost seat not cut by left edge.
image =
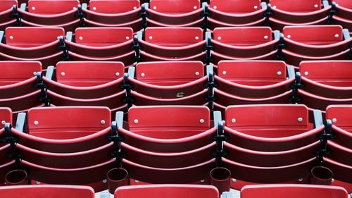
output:
[[30, 13], [52, 15], [77, 10], [78, 0], [28, 0]]

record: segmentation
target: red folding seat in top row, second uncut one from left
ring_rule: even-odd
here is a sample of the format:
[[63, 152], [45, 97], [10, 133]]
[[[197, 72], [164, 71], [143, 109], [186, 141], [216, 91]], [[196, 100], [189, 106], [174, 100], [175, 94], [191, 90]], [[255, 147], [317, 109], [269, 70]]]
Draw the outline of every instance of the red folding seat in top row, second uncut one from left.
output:
[[140, 30], [139, 0], [91, 0], [89, 10], [84, 4], [82, 8], [86, 15], [84, 23], [90, 27], [132, 27], [135, 32]]

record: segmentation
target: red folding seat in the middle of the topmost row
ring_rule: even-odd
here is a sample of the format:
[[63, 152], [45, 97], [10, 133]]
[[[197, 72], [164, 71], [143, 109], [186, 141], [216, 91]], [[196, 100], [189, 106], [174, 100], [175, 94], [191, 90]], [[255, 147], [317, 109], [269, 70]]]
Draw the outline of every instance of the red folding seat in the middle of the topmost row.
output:
[[199, 0], [151, 0], [146, 11], [152, 26], [199, 27], [203, 20]]

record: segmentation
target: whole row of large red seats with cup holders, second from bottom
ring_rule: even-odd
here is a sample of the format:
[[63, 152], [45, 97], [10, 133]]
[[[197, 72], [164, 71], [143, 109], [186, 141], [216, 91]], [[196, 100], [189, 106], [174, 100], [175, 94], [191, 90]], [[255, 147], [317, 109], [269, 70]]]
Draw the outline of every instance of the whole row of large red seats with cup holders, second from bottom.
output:
[[222, 121], [218, 111], [210, 120], [205, 106], [134, 106], [126, 122], [118, 112], [111, 123], [106, 107], [52, 106], [18, 114], [11, 128], [11, 110], [3, 108], [0, 182], [23, 169], [20, 175], [30, 180], [99, 190], [107, 179], [111, 192], [128, 178], [222, 178], [220, 192], [229, 190], [230, 178], [351, 183], [351, 112], [351, 105], [329, 106], [325, 122], [320, 111], [310, 121], [307, 107], [298, 104], [239, 105], [227, 107]]

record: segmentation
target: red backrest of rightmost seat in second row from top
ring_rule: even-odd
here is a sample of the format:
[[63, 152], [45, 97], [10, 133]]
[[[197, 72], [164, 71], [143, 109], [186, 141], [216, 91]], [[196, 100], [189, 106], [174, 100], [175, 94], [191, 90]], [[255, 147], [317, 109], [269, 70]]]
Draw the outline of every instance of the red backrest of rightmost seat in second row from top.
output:
[[283, 32], [284, 37], [303, 44], [334, 44], [344, 39], [340, 25], [286, 26]]

